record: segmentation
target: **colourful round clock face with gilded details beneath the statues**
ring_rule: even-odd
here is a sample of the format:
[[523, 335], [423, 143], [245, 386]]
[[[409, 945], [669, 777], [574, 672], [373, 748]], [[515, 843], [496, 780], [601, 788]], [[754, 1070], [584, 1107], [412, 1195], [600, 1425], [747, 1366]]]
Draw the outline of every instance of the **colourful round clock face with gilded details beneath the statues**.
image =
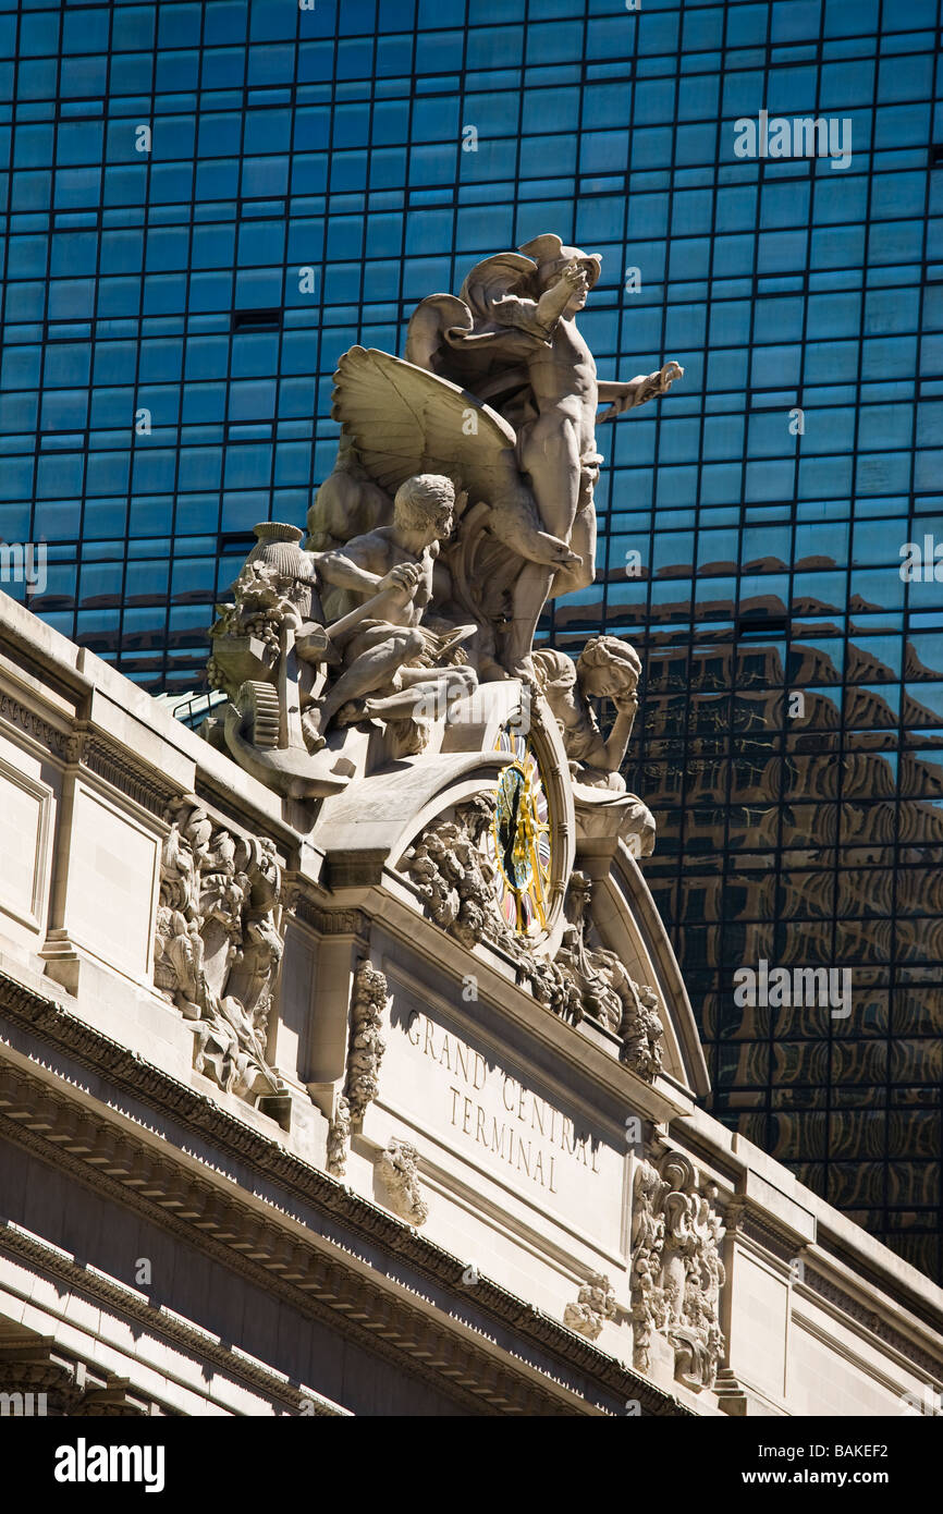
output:
[[527, 736], [501, 731], [496, 751], [512, 752], [501, 774], [484, 851], [498, 880], [498, 907], [519, 936], [546, 930], [552, 868], [552, 819], [540, 762]]

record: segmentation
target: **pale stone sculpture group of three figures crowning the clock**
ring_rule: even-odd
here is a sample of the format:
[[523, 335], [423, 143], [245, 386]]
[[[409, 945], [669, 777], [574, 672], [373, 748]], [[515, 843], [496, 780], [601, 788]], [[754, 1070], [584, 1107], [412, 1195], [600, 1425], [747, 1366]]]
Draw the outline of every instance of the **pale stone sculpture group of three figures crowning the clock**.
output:
[[[548, 600], [593, 580], [599, 403], [622, 415], [681, 374], [596, 377], [577, 315], [599, 262], [539, 236], [480, 262], [459, 297], [422, 300], [404, 359], [341, 359], [338, 460], [307, 542], [256, 527], [210, 631], [229, 702], [206, 734], [271, 787], [335, 793], [363, 772], [351, 727], [381, 728], [384, 760], [415, 754], [430, 710], [507, 678], [546, 695], [581, 789], [624, 787], [634, 651], [596, 637], [575, 666], [533, 651]], [[590, 701], [605, 696], [604, 740]]]

